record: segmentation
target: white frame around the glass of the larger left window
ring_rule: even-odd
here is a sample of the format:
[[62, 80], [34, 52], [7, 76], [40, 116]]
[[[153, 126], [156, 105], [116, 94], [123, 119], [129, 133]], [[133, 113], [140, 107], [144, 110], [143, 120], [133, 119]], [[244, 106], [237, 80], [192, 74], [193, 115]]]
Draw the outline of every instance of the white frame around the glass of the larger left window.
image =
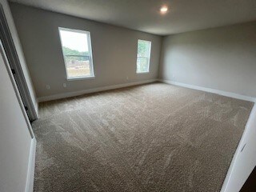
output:
[[[86, 31], [86, 30], [74, 30], [74, 29], [69, 29], [69, 28], [65, 28], [65, 27], [58, 27], [58, 34], [59, 34], [59, 39], [61, 41], [61, 46], [62, 46], [62, 36], [61, 36], [61, 30], [64, 31], [70, 31], [70, 32], [75, 32], [75, 33], [79, 33], [79, 34], [86, 34], [87, 35], [87, 43], [88, 43], [88, 52], [89, 52], [89, 66], [90, 66], [90, 75], [86, 75], [86, 76], [78, 76], [78, 77], [68, 77], [68, 73], [67, 73], [67, 67], [66, 67], [66, 57], [62, 48], [62, 57], [64, 60], [64, 65], [65, 65], [65, 71], [66, 71], [66, 80], [68, 81], [73, 81], [73, 80], [82, 80], [82, 79], [90, 79], [90, 78], [95, 78], [95, 74], [94, 74], [94, 62], [93, 62], [93, 52], [92, 52], [92, 48], [91, 48], [91, 40], [90, 40], [90, 31]], [[62, 46], [63, 47], [63, 46]], [[80, 56], [80, 55], [78, 55]]]

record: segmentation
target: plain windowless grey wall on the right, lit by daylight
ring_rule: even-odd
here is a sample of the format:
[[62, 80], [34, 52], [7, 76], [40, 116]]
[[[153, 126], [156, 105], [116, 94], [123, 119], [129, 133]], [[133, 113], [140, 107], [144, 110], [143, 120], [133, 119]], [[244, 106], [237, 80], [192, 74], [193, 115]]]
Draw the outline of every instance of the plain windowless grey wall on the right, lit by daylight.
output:
[[163, 38], [159, 77], [256, 97], [256, 22]]

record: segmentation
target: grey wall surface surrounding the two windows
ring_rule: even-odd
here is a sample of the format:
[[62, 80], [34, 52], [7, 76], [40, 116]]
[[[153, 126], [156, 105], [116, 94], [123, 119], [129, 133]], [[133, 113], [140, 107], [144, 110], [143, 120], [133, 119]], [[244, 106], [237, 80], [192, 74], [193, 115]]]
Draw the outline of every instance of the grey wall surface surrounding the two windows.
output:
[[[10, 3], [10, 9], [38, 97], [158, 78], [160, 36], [17, 3]], [[95, 78], [66, 80], [59, 26], [90, 31]], [[152, 42], [148, 74], [136, 74], [138, 38]]]

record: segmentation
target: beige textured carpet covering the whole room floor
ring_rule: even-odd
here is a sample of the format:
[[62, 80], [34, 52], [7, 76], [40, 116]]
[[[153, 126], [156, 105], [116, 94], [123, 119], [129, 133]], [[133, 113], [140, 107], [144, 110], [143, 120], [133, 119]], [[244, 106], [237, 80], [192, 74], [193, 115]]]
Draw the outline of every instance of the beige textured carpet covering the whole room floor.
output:
[[164, 83], [43, 102], [34, 191], [219, 191], [252, 106]]

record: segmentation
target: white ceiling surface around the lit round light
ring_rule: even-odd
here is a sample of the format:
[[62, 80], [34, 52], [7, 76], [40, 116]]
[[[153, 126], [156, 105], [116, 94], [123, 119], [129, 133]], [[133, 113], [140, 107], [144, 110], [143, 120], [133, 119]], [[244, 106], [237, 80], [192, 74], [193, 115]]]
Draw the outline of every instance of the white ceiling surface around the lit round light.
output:
[[[150, 34], [177, 34], [256, 20], [256, 0], [10, 0]], [[166, 15], [162, 5], [170, 6]]]

